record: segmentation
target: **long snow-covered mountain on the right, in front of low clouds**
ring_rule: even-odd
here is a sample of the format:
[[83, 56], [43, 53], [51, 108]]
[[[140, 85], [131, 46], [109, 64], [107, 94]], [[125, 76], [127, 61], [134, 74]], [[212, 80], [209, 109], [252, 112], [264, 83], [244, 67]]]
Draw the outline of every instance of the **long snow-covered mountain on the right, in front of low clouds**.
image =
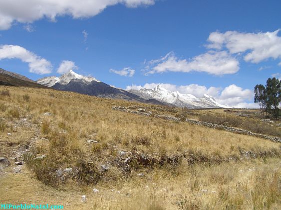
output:
[[178, 91], [171, 92], [158, 85], [152, 89], [129, 90], [129, 92], [136, 94], [144, 99], [156, 99], [160, 102], [175, 105], [178, 107], [188, 108], [215, 108], [215, 107], [229, 107], [228, 105], [221, 105], [216, 100], [205, 94], [201, 98], [197, 98], [192, 94], [181, 94]]

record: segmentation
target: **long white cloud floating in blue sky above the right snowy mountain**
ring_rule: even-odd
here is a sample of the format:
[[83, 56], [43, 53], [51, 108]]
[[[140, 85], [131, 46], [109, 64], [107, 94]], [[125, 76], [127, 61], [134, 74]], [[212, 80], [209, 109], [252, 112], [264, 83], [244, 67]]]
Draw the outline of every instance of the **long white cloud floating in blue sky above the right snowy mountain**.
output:
[[193, 57], [190, 61], [180, 60], [174, 53], [147, 62], [146, 74], [163, 72], [207, 72], [214, 75], [234, 74], [239, 70], [239, 62], [226, 51], [208, 51]]

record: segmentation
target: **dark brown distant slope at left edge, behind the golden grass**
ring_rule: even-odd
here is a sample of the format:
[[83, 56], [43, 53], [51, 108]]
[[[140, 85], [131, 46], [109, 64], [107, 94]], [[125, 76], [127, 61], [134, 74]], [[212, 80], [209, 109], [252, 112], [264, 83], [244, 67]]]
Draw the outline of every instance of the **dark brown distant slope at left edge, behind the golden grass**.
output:
[[34, 82], [26, 80], [20, 80], [7, 74], [0, 73], [0, 85], [4, 86], [15, 86], [15, 87], [34, 87], [34, 88], [49, 88]]

